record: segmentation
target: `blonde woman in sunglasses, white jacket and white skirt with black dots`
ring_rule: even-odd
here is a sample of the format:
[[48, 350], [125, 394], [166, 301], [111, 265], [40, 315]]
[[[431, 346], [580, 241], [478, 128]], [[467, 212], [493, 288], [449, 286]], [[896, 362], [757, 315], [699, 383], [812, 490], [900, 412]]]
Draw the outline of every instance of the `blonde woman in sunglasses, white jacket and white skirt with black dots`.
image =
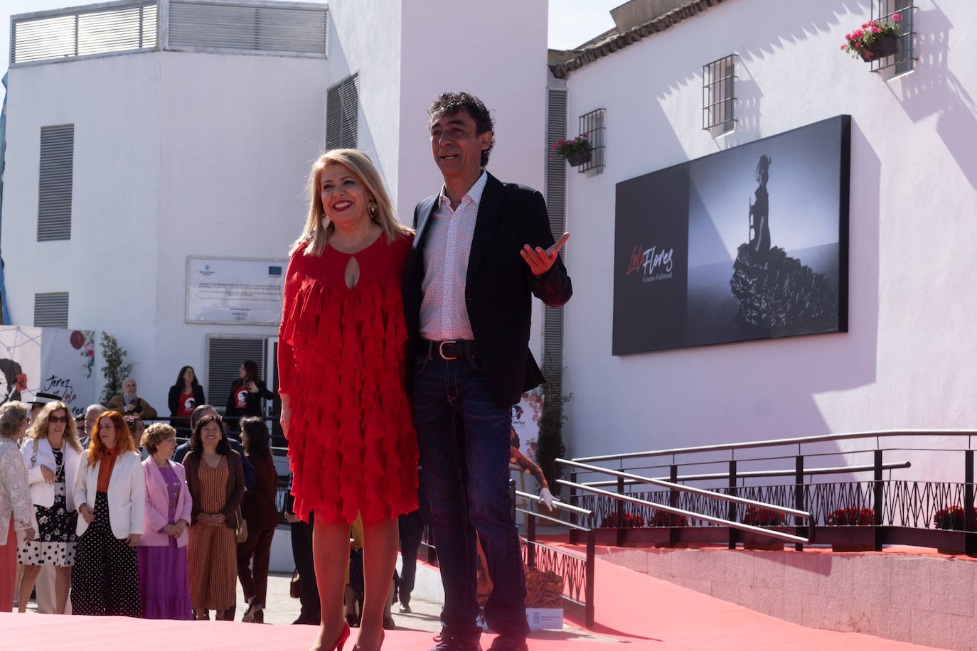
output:
[[78, 513], [72, 488], [81, 461], [74, 417], [64, 402], [56, 400], [44, 406], [27, 429], [21, 456], [27, 467], [38, 532], [37, 538], [21, 545], [18, 554], [23, 565], [18, 610], [26, 610], [41, 567], [50, 565], [55, 568], [54, 612], [64, 615], [77, 540]]

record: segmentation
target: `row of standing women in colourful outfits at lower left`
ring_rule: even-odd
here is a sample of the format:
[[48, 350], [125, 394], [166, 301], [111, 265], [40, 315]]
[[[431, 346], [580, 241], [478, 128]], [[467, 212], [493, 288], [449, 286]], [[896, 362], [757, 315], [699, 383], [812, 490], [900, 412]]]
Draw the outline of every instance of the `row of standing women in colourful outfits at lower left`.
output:
[[[241, 420], [238, 454], [216, 410], [197, 406], [180, 464], [170, 425], [134, 429], [130, 417], [93, 405], [83, 448], [64, 402], [34, 411], [31, 418], [21, 402], [0, 406], [0, 515], [10, 510], [0, 532], [0, 611], [11, 610], [16, 594], [24, 612], [42, 568], [52, 568], [49, 612], [189, 620], [213, 610], [215, 619], [233, 619], [239, 578], [245, 621], [261, 621], [279, 519], [262, 419]], [[257, 469], [247, 495], [244, 460]], [[242, 518], [251, 522], [243, 536]]]

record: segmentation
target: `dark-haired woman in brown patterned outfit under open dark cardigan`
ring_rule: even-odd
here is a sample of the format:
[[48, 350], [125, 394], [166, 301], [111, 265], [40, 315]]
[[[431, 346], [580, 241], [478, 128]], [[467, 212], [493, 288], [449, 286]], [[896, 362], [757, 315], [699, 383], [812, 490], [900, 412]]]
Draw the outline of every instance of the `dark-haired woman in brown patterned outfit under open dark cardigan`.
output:
[[234, 618], [237, 584], [237, 527], [244, 497], [244, 467], [231, 449], [219, 416], [204, 416], [193, 427], [184, 458], [191, 509], [190, 598], [193, 619]]

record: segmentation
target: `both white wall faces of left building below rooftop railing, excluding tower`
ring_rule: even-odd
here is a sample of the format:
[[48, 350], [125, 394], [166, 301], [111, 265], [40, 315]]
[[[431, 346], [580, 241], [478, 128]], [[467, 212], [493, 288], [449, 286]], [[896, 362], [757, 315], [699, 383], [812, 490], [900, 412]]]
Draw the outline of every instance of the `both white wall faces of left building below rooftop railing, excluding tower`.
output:
[[[186, 261], [287, 258], [323, 146], [324, 66], [162, 52], [13, 68], [2, 241], [15, 323], [32, 323], [35, 293], [67, 291], [69, 325], [116, 336], [162, 415], [181, 366], [204, 378], [206, 335], [275, 335], [185, 323]], [[71, 239], [37, 242], [40, 128], [64, 123]]]

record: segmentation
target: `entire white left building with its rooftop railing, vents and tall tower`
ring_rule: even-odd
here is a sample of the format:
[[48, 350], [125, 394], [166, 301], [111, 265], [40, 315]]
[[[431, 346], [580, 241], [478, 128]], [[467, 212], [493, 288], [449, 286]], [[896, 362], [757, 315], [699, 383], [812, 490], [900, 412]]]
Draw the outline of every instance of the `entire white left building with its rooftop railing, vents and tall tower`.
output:
[[[59, 322], [43, 325], [115, 336], [160, 415], [187, 364], [222, 406], [245, 358], [272, 386], [277, 326], [189, 322], [188, 260], [283, 265], [327, 145], [366, 151], [410, 224], [441, 183], [427, 105], [467, 90], [496, 120], [490, 169], [541, 186], [543, 158], [526, 151], [544, 147], [545, 3], [506, 0], [477, 20], [423, 5], [133, 0], [13, 17], [0, 233], [12, 321], [53, 309]], [[437, 16], [512, 41], [433, 38]], [[42, 160], [51, 127], [68, 141]], [[45, 198], [65, 187], [45, 222]]]

